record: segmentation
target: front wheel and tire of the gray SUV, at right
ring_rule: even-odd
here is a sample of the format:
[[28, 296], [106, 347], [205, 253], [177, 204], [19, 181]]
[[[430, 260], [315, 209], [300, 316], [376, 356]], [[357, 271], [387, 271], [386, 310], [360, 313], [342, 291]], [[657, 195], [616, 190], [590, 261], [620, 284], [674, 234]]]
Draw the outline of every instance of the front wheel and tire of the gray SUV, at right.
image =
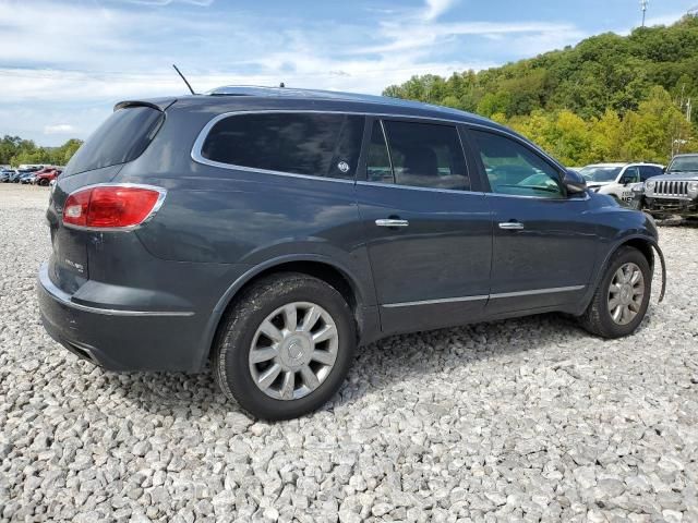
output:
[[638, 328], [650, 303], [652, 271], [642, 253], [621, 247], [609, 262], [581, 326], [602, 338], [622, 338]]

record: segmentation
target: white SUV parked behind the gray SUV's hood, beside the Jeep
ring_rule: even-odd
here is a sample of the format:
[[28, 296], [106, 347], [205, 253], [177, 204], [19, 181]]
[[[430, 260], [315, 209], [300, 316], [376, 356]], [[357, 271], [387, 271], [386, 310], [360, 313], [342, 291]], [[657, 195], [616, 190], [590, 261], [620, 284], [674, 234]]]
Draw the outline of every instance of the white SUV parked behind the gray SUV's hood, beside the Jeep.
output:
[[634, 187], [639, 187], [648, 178], [664, 173], [659, 163], [593, 163], [579, 169], [587, 186], [600, 194], [613, 196], [618, 203], [629, 204], [635, 198]]

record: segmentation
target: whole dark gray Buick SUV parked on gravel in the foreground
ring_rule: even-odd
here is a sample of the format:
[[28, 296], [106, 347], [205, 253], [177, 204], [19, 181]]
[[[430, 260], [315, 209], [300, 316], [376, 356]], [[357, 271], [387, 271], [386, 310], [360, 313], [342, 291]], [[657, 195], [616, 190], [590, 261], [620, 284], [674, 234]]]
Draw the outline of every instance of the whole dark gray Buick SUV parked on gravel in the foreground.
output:
[[494, 122], [285, 88], [118, 104], [47, 218], [52, 338], [111, 370], [210, 362], [267, 419], [389, 335], [553, 311], [630, 335], [661, 258], [650, 217]]

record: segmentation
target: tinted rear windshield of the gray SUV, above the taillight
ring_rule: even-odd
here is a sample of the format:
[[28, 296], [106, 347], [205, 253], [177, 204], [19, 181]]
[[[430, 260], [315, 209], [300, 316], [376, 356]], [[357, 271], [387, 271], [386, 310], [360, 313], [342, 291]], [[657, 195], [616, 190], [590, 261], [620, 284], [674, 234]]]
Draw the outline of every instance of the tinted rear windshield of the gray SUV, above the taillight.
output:
[[164, 118], [151, 107], [115, 111], [73, 155], [65, 175], [135, 160], [151, 145]]

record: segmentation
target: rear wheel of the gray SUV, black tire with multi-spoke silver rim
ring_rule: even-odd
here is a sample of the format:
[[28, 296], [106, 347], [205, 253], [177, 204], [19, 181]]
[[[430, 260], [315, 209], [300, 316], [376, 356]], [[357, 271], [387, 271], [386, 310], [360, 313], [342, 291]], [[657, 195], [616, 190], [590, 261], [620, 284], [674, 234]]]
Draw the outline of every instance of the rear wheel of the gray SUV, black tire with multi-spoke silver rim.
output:
[[214, 375], [255, 417], [302, 416], [344, 382], [357, 331], [341, 294], [298, 272], [273, 275], [237, 300], [217, 338]]

